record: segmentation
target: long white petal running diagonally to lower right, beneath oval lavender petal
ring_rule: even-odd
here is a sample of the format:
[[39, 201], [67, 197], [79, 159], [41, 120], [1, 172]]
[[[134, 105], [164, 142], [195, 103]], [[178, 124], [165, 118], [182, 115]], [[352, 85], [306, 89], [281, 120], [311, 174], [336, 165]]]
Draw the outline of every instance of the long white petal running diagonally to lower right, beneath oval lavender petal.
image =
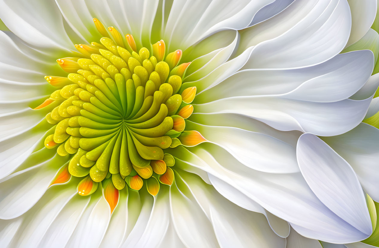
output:
[[[272, 214], [290, 222], [301, 235], [332, 243], [363, 240], [364, 234], [330, 211], [312, 192], [301, 173], [273, 174], [241, 165], [232, 155], [199, 147], [175, 149], [175, 158], [240, 190]], [[195, 155], [196, 154], [196, 155]]]

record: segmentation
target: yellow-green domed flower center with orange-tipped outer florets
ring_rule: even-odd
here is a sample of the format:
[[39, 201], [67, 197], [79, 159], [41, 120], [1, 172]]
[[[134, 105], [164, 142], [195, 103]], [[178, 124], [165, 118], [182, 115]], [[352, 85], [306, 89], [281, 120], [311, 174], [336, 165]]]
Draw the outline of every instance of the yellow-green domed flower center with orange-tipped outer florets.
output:
[[45, 77], [60, 87], [35, 108], [59, 103], [46, 115], [55, 131], [45, 147], [57, 148], [60, 156], [72, 154], [65, 171], [85, 177], [80, 195], [93, 193], [99, 182], [118, 190], [125, 184], [139, 190], [145, 182], [156, 195], [159, 183], [171, 185], [174, 179], [175, 160], [164, 149], [180, 145], [182, 133], [189, 143], [196, 135], [204, 139], [184, 131], [196, 94], [196, 87], [181, 89], [190, 62], [178, 65], [181, 50], [164, 56], [163, 40], [152, 45], [153, 56], [145, 47], [137, 52], [132, 35], [124, 43], [115, 28], [108, 28], [109, 36], [99, 20], [94, 22], [105, 36], [100, 43], [75, 45], [84, 58], [57, 60], [67, 77]]

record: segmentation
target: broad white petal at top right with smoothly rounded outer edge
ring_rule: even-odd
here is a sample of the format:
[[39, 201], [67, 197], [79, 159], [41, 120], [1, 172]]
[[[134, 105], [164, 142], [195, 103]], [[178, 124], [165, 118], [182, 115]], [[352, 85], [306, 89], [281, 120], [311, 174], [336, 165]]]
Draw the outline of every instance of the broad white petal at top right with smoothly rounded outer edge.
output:
[[[299, 2], [301, 4], [302, 1]], [[283, 35], [255, 45], [244, 68], [304, 67], [337, 55], [345, 47], [351, 28], [346, 0], [321, 0], [306, 13], [304, 19]]]

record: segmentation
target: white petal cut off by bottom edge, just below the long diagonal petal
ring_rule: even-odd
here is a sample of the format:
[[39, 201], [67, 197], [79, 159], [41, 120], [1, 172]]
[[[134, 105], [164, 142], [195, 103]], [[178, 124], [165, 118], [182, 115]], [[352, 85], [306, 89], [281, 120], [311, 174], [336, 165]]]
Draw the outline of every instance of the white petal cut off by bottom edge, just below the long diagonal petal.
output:
[[199, 204], [209, 218], [221, 247], [283, 247], [285, 240], [271, 231], [261, 214], [230, 203], [193, 174], [178, 172], [179, 190]]

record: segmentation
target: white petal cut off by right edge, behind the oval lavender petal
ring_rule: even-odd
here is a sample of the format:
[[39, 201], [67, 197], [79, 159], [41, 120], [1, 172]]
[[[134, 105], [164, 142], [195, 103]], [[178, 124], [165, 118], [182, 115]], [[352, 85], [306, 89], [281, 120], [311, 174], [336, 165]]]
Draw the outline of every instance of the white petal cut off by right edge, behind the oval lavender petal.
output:
[[359, 124], [351, 131], [334, 137], [322, 138], [342, 158], [351, 165], [357, 173], [363, 189], [379, 201], [379, 172], [377, 161], [379, 159], [379, 129], [366, 123]]

